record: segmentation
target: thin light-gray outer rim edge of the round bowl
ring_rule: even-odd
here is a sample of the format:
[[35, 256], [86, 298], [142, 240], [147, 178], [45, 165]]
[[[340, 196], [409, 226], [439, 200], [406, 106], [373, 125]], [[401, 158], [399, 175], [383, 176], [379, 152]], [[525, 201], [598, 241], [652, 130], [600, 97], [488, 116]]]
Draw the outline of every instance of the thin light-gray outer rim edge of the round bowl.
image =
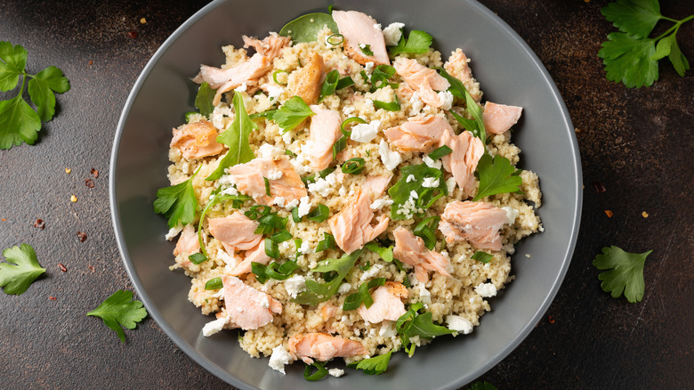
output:
[[[125, 241], [123, 239], [123, 229], [120, 223], [120, 214], [118, 212], [118, 207], [115, 200], [117, 172], [116, 162], [118, 157], [120, 141], [122, 138], [122, 134], [125, 130], [125, 121], [127, 120], [130, 111], [133, 108], [133, 102], [135, 101], [135, 97], [138, 95], [138, 93], [140, 93], [141, 86], [144, 84], [147, 77], [149, 76], [149, 72], [151, 71], [151, 69], [154, 68], [154, 66], [157, 64], [157, 61], [159, 61], [161, 56], [164, 55], [164, 53], [169, 49], [169, 46], [173, 45], [173, 42], [176, 41], [180, 36], [182, 36], [182, 34], [184, 34], [188, 30], [188, 28], [190, 28], [190, 25], [194, 24], [203, 16], [205, 16], [208, 12], [212, 12], [215, 8], [217, 8], [223, 3], [226, 3], [227, 1], [229, 0], [214, 0], [212, 3], [207, 4], [206, 6], [198, 10], [198, 12], [195, 12], [192, 16], [190, 16], [188, 20], [185, 20], [182, 23], [182, 25], [179, 28], [176, 28], [175, 31], [173, 31], [173, 33], [171, 34], [171, 36], [166, 38], [164, 43], [161, 46], [159, 46], [157, 52], [152, 55], [152, 57], [147, 62], [147, 65], [145, 65], [145, 67], [142, 69], [140, 76], [135, 81], [131, 92], [128, 94], [127, 100], [125, 101], [125, 106], [123, 108], [123, 111], [121, 112], [120, 118], [118, 119], [117, 130], [116, 134], [114, 135], [114, 142], [111, 148], [111, 158], [109, 164], [109, 208], [111, 212], [111, 222], [113, 223], [113, 229], [116, 236], [118, 251], [120, 253], [121, 258], [123, 259], [123, 263], [125, 264], [125, 270], [128, 276], [130, 277], [130, 280], [133, 281], [135, 291], [141, 298], [142, 303], [147, 308], [149, 316], [157, 322], [157, 325], [162, 330], [164, 330], [166, 336], [169, 337], [175, 345], [181, 348], [181, 350], [184, 353], [186, 353], [194, 362], [197, 362], [205, 370], [211, 372], [215, 377], [222, 379], [223, 381], [229, 383], [232, 386], [237, 386], [238, 388], [259, 388], [256, 386], [251, 386], [246, 382], [240, 381], [238, 378], [232, 376], [228, 371], [222, 370], [217, 365], [215, 365], [214, 362], [208, 360], [203, 354], [198, 353], [198, 351], [192, 345], [190, 345], [188, 342], [182, 339], [182, 337], [178, 336], [175, 330], [171, 326], [169, 326], [169, 324], [165, 321], [164, 316], [162, 315], [162, 313], [159, 312], [157, 307], [150, 304], [149, 295], [144, 290], [139, 276], [135, 273], [133, 261], [126, 250]], [[542, 77], [550, 86], [551, 91], [553, 93], [551, 97], [554, 101], [556, 101], [557, 105], [561, 109], [562, 118], [564, 120], [562, 127], [569, 131], [569, 140], [571, 142], [572, 152], [570, 160], [577, 174], [574, 178], [574, 180], [576, 181], [576, 203], [573, 205], [573, 209], [571, 210], [573, 212], [573, 223], [571, 226], [569, 245], [567, 246], [566, 251], [564, 252], [560, 272], [556, 275], [556, 278], [553, 280], [550, 293], [545, 297], [545, 300], [538, 307], [536, 313], [532, 315], [531, 320], [528, 322], [526, 327], [521, 329], [520, 333], [518, 333], [517, 336], [513, 339], [512, 343], [506, 345], [500, 353], [497, 353], [495, 357], [490, 359], [487, 363], [481, 365], [480, 368], [478, 368], [477, 370], [472, 370], [471, 373], [465, 376], [466, 378], [472, 378], [470, 380], [473, 380], [474, 378], [479, 378], [482, 374], [496, 366], [496, 364], [503, 361], [506, 358], [506, 356], [512, 353], [512, 351], [514, 351], [518, 347], [518, 345], [520, 345], [520, 343], [522, 343], [523, 340], [525, 340], [526, 337], [528, 337], [532, 329], [535, 328], [534, 324], [536, 324], [537, 321], [539, 321], [540, 318], [544, 316], [546, 311], [549, 309], [549, 306], [552, 304], [554, 297], [556, 297], [557, 293], [559, 292], [561, 283], [569, 270], [569, 264], [571, 263], [571, 258], [574, 254], [577, 244], [581, 212], [583, 209], [583, 191], [581, 190], [582, 167], [580, 163], [580, 152], [578, 149], [577, 137], [573, 131], [574, 126], [571, 122], [569, 110], [566, 107], [566, 103], [561, 97], [561, 93], [559, 92], [557, 85], [554, 83], [553, 78], [550, 76], [549, 72], [545, 68], [545, 65], [543, 65], [542, 61], [539, 60], [537, 54], [534, 53], [532, 49], [530, 49], [529, 45], [525, 42], [525, 40], [523, 40], [523, 38], [521, 38], [518, 35], [518, 33], [515, 30], [513, 30], [513, 28], [511, 28], [504, 20], [502, 20], [498, 15], [496, 15], [496, 13], [492, 12], [486, 6], [480, 4], [478, 1], [463, 1], [464, 3], [467, 3], [470, 6], [475, 7], [479, 12], [485, 14], [490, 20], [495, 22], [497, 25], [499, 25], [501, 29], [508, 33], [509, 36], [512, 37], [512, 39], [515, 41], [515, 44], [520, 46], [522, 51], [529, 56], [531, 62], [537, 67]], [[457, 388], [460, 386], [464, 386], [467, 383], [467, 381], [464, 380], [465, 377], [454, 379], [448, 384], [447, 387]]]

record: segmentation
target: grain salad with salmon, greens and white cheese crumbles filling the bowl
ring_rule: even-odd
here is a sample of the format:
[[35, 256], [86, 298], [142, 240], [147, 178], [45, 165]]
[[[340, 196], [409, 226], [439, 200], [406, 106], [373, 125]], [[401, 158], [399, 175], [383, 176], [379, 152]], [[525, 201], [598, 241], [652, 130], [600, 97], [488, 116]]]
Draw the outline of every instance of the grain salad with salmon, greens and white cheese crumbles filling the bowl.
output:
[[[310, 380], [387, 370], [470, 334], [542, 232], [535, 173], [511, 143], [522, 108], [482, 102], [461, 49], [363, 12], [311, 13], [201, 65], [154, 208], [172, 270], [270, 368]], [[483, 64], [480, 64], [483, 66]], [[450, 336], [448, 336], [450, 335]]]

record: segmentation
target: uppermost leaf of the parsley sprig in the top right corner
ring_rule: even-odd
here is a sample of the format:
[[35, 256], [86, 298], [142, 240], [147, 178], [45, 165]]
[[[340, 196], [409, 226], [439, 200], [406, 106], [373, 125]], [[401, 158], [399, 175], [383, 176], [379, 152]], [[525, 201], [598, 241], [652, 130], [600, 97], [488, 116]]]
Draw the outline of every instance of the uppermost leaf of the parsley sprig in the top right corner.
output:
[[636, 37], [648, 37], [656, 27], [660, 14], [658, 0], [617, 0], [600, 10], [616, 28]]

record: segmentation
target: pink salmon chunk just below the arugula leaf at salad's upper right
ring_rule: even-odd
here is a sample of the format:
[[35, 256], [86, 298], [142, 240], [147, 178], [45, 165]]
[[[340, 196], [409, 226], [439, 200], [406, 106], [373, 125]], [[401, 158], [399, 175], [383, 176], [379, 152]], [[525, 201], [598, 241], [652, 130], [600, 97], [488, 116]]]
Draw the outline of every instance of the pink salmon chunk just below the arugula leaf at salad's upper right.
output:
[[405, 80], [412, 91], [419, 93], [422, 102], [432, 107], [440, 107], [440, 96], [435, 91], [446, 91], [450, 86], [448, 80], [441, 77], [434, 69], [420, 64], [416, 60], [398, 57], [392, 63], [393, 68]]

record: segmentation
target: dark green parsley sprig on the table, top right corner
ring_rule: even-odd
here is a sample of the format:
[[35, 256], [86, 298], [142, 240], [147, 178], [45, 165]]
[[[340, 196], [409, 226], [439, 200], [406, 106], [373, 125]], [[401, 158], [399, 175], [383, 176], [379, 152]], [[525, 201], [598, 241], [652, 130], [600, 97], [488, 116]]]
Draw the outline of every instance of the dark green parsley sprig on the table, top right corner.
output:
[[[620, 32], [610, 33], [602, 43], [598, 56], [607, 71], [607, 78], [629, 88], [653, 85], [658, 80], [658, 61], [666, 56], [677, 73], [684, 77], [690, 63], [677, 45], [677, 31], [694, 19], [667, 18], [660, 13], [658, 0], [617, 0], [601, 9], [605, 18]], [[658, 20], [674, 22], [674, 26], [655, 38], [649, 38]]]

